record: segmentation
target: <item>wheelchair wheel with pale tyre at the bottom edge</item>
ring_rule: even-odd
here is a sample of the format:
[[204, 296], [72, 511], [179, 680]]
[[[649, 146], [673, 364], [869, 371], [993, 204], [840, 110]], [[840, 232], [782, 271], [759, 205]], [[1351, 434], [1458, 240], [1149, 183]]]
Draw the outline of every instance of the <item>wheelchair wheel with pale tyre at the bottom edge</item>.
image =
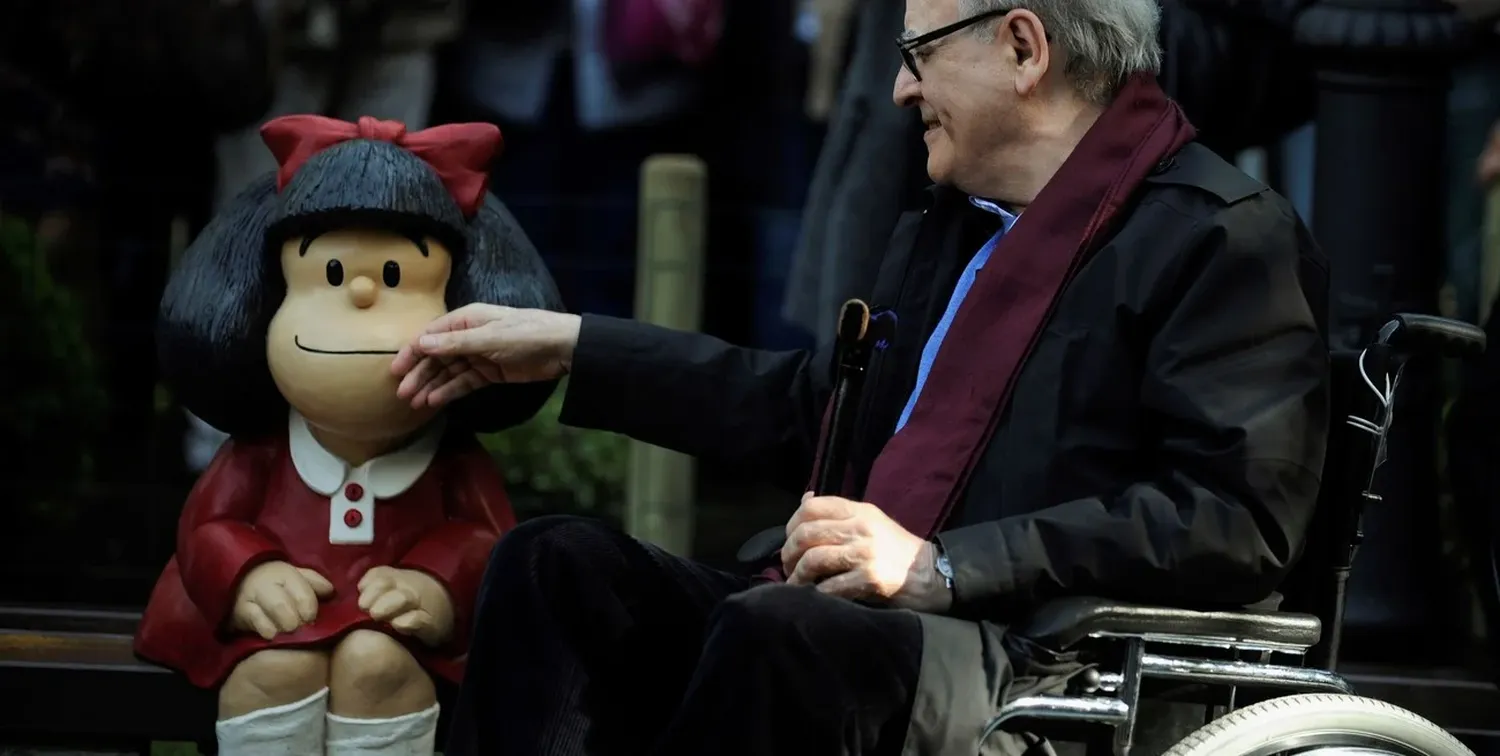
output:
[[1263, 700], [1188, 735], [1162, 756], [1275, 753], [1474, 756], [1431, 722], [1383, 700], [1312, 693]]

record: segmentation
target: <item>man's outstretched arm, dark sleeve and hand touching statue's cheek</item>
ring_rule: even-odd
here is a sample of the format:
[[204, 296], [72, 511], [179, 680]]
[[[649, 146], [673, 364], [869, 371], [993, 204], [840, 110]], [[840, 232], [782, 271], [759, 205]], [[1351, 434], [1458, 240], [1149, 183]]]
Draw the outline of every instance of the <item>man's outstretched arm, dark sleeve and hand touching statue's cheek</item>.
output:
[[561, 422], [807, 483], [831, 393], [831, 354], [771, 352], [600, 315], [468, 304], [392, 362], [398, 396], [442, 406], [495, 382], [568, 374]]

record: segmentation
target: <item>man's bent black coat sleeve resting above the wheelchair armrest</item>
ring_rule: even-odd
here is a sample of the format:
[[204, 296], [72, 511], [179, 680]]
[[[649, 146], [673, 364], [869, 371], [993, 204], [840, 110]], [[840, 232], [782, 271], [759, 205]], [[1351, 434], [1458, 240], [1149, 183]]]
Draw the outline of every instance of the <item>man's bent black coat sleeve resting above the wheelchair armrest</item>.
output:
[[1305, 236], [1287, 210], [1252, 200], [1192, 238], [1148, 282], [1137, 417], [1154, 442], [1140, 477], [944, 532], [957, 612], [1016, 616], [1062, 594], [1250, 604], [1300, 554], [1329, 428]]

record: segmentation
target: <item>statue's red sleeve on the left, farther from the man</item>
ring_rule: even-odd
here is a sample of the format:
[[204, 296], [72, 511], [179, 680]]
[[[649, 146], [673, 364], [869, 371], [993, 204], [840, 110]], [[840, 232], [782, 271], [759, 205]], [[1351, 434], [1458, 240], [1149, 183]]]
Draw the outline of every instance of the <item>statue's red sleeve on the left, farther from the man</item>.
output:
[[183, 588], [213, 627], [228, 620], [244, 573], [286, 558], [252, 525], [266, 498], [270, 458], [268, 448], [225, 441], [198, 476], [177, 522]]

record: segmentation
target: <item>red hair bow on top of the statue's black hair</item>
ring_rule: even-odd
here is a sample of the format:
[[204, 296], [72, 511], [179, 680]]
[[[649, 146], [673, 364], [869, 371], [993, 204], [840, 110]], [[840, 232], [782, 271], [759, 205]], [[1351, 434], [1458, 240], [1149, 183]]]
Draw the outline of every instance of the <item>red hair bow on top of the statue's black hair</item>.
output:
[[464, 210], [474, 218], [484, 192], [489, 190], [489, 164], [500, 153], [500, 128], [490, 123], [450, 123], [406, 134], [400, 122], [360, 117], [358, 123], [324, 116], [282, 116], [261, 126], [261, 140], [270, 147], [279, 165], [276, 190], [291, 183], [292, 176], [308, 162], [334, 144], [351, 140], [392, 142], [436, 171], [442, 186]]

